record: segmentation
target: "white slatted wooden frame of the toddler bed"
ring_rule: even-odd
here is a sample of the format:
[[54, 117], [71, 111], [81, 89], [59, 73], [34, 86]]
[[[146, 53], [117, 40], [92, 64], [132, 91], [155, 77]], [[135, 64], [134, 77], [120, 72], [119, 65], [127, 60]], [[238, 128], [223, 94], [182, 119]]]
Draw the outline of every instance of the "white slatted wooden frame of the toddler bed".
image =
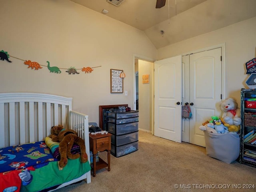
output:
[[[43, 141], [50, 135], [51, 127], [58, 124], [75, 130], [84, 139], [90, 164], [88, 115], [72, 111], [72, 98], [39, 93], [0, 93], [0, 148]], [[91, 182], [90, 171], [53, 190], [84, 179], [86, 183]]]

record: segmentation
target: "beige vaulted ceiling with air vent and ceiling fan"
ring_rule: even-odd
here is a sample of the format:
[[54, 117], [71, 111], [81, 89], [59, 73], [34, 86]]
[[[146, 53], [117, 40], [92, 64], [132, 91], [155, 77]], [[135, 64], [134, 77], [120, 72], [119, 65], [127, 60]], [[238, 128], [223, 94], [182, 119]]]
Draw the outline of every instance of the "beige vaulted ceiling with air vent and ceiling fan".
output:
[[[156, 48], [256, 16], [256, 0], [124, 0], [114, 6], [106, 0], [71, 0], [146, 33]], [[161, 30], [164, 30], [162, 36]]]

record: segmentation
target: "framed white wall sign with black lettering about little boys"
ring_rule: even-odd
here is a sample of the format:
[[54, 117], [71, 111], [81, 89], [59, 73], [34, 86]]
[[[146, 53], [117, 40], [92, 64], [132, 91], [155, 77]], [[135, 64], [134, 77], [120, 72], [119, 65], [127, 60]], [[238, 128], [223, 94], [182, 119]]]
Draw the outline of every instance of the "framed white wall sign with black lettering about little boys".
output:
[[124, 92], [123, 78], [120, 77], [121, 72], [123, 70], [110, 69], [110, 93]]

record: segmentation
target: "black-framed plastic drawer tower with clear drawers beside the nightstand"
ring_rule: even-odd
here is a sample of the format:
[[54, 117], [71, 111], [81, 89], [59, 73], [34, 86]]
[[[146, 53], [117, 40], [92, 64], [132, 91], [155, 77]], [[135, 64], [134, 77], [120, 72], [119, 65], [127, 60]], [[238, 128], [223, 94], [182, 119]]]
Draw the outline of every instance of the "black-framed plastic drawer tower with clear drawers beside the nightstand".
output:
[[107, 112], [108, 132], [111, 136], [111, 154], [124, 156], [138, 150], [139, 112]]

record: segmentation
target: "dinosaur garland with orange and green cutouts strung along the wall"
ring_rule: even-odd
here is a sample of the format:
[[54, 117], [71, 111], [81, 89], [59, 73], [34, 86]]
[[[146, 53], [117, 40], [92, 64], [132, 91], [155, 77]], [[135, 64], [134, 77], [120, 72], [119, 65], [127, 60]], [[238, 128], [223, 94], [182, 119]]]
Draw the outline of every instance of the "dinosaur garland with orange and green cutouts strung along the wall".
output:
[[[31, 68], [34, 70], [42, 69], [43, 68], [42, 66], [45, 66], [52, 73], [61, 73], [60, 68], [58, 68], [57, 66], [51, 67], [49, 61], [47, 61], [47, 63], [48, 63], [47, 65], [40, 65], [38, 62], [32, 62], [31, 60], [23, 60], [23, 59], [14, 57], [14, 56], [10, 56], [8, 54], [8, 52], [5, 52], [4, 50], [0, 51], [0, 60], [3, 60], [3, 61], [6, 60], [8, 62], [12, 62], [8, 59], [10, 57], [24, 61], [24, 64], [28, 65], [28, 68]], [[97, 66], [97, 67], [101, 67], [101, 66]], [[92, 67], [92, 68], [97, 68], [97, 67]], [[61, 68], [61, 69], [66, 69], [66, 72], [70, 75], [70, 74], [80, 74], [77, 72], [77, 70], [82, 70], [82, 72], [85, 72], [85, 73], [91, 73], [93, 71], [92, 68], [91, 67], [83, 67], [81, 69], [76, 69], [75, 67], [70, 67], [68, 69], [66, 69], [66, 68]]]

